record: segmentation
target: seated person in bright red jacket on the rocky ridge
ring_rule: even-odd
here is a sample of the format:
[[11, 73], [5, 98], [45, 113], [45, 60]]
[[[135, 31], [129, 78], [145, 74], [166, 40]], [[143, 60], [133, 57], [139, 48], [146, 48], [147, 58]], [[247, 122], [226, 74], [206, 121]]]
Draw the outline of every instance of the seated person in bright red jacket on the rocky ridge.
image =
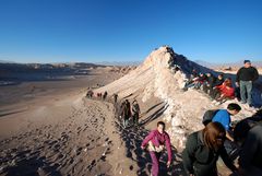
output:
[[217, 102], [235, 98], [231, 79], [226, 79], [222, 85], [216, 86], [211, 97]]

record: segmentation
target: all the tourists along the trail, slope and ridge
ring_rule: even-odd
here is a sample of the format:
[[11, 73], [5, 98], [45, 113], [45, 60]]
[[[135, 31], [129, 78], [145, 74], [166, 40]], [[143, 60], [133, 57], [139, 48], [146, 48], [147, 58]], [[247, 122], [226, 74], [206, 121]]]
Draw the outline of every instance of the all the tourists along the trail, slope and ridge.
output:
[[[258, 70], [251, 66], [250, 60], [245, 60], [245, 66], [238, 70], [236, 77], [236, 87], [240, 89], [241, 104], [252, 106], [252, 84], [259, 78]], [[184, 85], [184, 91], [189, 87], [201, 89], [211, 98], [218, 103], [235, 98], [236, 87], [230, 78], [224, 74], [215, 77], [211, 72], [198, 73], [193, 70]], [[94, 93], [87, 92], [87, 97]], [[106, 99], [107, 92], [97, 94], [97, 97]], [[114, 94], [114, 104], [118, 102], [118, 95]], [[237, 115], [241, 107], [236, 103], [230, 103], [226, 109], [212, 109], [203, 115], [204, 128], [189, 134], [186, 148], [182, 152], [182, 163], [189, 176], [217, 176], [217, 161], [221, 157], [225, 165], [236, 175], [240, 176], [262, 176], [262, 109], [252, 117], [245, 118], [235, 124], [231, 116]], [[120, 104], [119, 117], [123, 128], [139, 125], [141, 110], [138, 101], [132, 104], [124, 99]], [[170, 167], [172, 152], [169, 134], [165, 131], [165, 122], [158, 121], [156, 130], [153, 130], [143, 140], [141, 148], [147, 149], [152, 159], [152, 176], [159, 175], [159, 159], [167, 150], [167, 167]], [[238, 159], [238, 166], [234, 161]]]

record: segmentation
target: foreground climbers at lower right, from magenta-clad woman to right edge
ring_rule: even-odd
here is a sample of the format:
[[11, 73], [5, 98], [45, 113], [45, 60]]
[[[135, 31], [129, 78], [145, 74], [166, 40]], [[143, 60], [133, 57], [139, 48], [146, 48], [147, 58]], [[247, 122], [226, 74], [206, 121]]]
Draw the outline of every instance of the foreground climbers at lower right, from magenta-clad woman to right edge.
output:
[[[229, 104], [227, 109], [217, 109], [205, 121], [204, 129], [188, 136], [182, 152], [182, 163], [189, 176], [217, 176], [217, 161], [221, 157], [225, 165], [237, 176], [262, 175], [262, 109], [252, 117], [231, 126], [230, 116], [241, 110], [238, 104]], [[237, 148], [238, 166], [235, 166], [233, 145]], [[228, 148], [229, 146], [229, 148]], [[172, 160], [170, 138], [165, 131], [165, 124], [157, 122], [156, 130], [143, 140], [142, 149], [147, 149], [152, 159], [152, 176], [159, 174], [159, 159], [167, 150], [167, 167]], [[235, 153], [236, 154], [236, 153]]]

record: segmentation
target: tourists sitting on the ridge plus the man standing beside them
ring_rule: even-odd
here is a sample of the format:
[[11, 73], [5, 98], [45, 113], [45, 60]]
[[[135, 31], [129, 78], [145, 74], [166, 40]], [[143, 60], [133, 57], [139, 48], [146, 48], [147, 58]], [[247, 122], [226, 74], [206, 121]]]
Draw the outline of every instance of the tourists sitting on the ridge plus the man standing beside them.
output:
[[245, 60], [243, 67], [237, 72], [236, 86], [231, 78], [224, 78], [223, 73], [215, 77], [211, 72], [204, 74], [202, 72], [198, 73], [196, 70], [192, 70], [183, 90], [187, 91], [190, 87], [201, 89], [209, 94], [212, 99], [217, 102], [217, 104], [224, 103], [227, 99], [234, 99], [238, 96], [238, 90], [240, 90], [240, 97], [238, 99], [242, 104], [248, 104], [249, 107], [252, 107], [252, 85], [258, 79], [258, 70], [251, 66], [250, 60]]

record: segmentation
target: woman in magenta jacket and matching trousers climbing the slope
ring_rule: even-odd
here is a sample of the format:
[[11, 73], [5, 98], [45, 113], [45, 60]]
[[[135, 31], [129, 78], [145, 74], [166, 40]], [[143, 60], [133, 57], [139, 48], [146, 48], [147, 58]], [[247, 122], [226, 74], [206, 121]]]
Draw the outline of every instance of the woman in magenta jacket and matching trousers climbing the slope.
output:
[[167, 167], [171, 164], [171, 144], [168, 133], [165, 131], [165, 122], [158, 121], [157, 129], [150, 132], [150, 134], [142, 142], [141, 148], [150, 151], [152, 159], [152, 171], [153, 176], [158, 176], [159, 172], [159, 159], [160, 154], [164, 151], [165, 146], [167, 149], [168, 162]]

